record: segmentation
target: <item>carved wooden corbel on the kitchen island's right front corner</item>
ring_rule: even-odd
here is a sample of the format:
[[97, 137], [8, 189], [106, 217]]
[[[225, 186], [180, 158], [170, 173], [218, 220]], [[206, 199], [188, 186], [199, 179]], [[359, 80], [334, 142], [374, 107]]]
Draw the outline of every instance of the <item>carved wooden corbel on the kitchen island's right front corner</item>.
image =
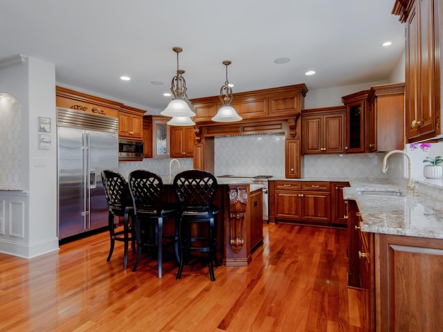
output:
[[230, 202], [230, 248], [236, 254], [242, 250], [244, 245], [243, 225], [246, 216], [246, 203], [248, 201], [248, 191], [246, 188], [229, 187]]

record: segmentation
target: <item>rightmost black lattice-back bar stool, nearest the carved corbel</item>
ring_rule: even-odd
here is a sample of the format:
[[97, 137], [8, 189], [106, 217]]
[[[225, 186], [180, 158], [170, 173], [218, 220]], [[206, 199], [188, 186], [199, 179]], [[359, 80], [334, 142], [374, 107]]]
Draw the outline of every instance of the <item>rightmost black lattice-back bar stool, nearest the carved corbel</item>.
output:
[[[179, 252], [180, 264], [177, 279], [183, 272], [183, 261], [188, 261], [190, 252], [208, 252], [208, 265], [211, 281], [215, 281], [213, 261], [219, 266], [217, 259], [217, 214], [219, 209], [213, 205], [217, 192], [217, 180], [213, 174], [191, 169], [177, 174], [173, 182], [174, 192], [180, 203], [179, 221]], [[192, 225], [206, 225], [199, 229], [198, 234]], [[201, 226], [197, 226], [200, 227]]]

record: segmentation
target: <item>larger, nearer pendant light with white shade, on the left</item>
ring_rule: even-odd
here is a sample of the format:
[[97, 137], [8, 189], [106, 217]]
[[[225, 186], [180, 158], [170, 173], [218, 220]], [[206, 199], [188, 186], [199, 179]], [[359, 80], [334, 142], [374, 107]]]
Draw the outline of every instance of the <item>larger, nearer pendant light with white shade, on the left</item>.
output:
[[[181, 53], [183, 48], [176, 46], [173, 47], [172, 50], [177, 53], [177, 74], [172, 77], [171, 83], [171, 92], [172, 95], [174, 95], [174, 99], [170, 101], [168, 107], [166, 107], [165, 110], [162, 111], [160, 114], [162, 116], [169, 116], [171, 118], [190, 118], [192, 116], [195, 116], [195, 113], [190, 109], [188, 104], [188, 95], [186, 95], [186, 81], [183, 77], [185, 71], [179, 69], [179, 53]], [[189, 120], [192, 122], [191, 119]]]

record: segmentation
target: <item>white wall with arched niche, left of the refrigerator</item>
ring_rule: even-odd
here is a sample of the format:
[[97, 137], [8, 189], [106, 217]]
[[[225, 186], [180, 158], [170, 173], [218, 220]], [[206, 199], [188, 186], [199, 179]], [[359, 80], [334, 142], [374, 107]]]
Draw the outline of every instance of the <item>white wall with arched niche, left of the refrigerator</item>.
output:
[[[24, 64], [0, 71], [0, 91], [21, 103], [23, 187], [21, 192], [0, 192], [0, 252], [30, 258], [58, 250], [55, 66], [33, 57], [24, 59]], [[52, 120], [53, 145], [48, 150], [38, 149], [39, 116]]]

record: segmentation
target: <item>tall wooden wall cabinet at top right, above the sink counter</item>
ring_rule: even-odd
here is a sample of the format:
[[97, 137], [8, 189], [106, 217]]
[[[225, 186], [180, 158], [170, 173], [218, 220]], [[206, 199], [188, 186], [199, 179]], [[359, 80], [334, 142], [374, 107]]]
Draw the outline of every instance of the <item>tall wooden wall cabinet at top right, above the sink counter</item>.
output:
[[406, 29], [407, 143], [442, 135], [442, 6], [439, 0], [397, 0], [392, 10]]

